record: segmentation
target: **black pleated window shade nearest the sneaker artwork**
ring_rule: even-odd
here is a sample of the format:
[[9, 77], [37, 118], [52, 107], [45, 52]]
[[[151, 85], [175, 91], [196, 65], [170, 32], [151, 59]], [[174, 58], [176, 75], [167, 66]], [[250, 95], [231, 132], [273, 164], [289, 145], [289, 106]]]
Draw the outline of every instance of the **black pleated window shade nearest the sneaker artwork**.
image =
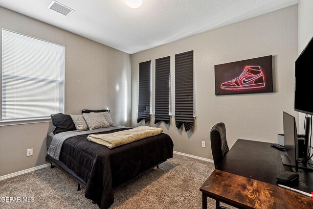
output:
[[194, 125], [194, 74], [193, 51], [175, 55], [175, 122], [185, 131]]

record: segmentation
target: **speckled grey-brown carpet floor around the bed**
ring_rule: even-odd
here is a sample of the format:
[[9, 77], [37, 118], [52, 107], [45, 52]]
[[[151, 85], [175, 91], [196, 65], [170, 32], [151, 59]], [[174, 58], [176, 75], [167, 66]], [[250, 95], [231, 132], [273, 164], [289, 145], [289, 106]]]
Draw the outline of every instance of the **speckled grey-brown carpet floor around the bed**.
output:
[[[213, 163], [174, 154], [159, 168], [114, 188], [110, 209], [201, 209], [199, 188], [213, 170]], [[0, 209], [99, 209], [84, 193], [60, 169], [47, 167], [0, 181], [0, 198], [29, 198], [29, 202], [0, 199]], [[208, 208], [215, 208], [215, 200], [208, 198]]]

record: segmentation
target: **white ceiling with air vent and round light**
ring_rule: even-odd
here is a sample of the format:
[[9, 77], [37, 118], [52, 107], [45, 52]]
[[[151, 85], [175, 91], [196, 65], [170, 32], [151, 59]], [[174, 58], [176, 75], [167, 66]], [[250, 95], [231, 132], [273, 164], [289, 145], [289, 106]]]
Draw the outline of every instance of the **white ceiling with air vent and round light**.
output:
[[57, 0], [74, 9], [68, 17], [52, 0], [0, 0], [0, 6], [133, 54], [298, 3], [299, 0]]

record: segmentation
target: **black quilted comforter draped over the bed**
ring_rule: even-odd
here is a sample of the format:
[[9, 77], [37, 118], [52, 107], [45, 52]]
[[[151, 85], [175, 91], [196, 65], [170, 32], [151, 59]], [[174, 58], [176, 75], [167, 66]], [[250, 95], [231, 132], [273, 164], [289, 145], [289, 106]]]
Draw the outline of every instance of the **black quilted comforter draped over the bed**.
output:
[[[106, 133], [126, 129], [129, 128]], [[164, 133], [113, 149], [89, 141], [87, 136], [64, 141], [60, 161], [87, 183], [85, 197], [95, 201], [100, 209], [107, 209], [114, 202], [113, 187], [173, 157], [173, 141]]]

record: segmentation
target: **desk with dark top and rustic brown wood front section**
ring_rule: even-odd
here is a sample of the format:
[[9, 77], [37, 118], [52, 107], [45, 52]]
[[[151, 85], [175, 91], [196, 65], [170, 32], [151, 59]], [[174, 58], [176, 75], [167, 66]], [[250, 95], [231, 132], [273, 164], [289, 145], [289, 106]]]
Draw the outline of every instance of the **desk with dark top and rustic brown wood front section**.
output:
[[[238, 139], [201, 186], [202, 208], [206, 208], [206, 197], [243, 209], [313, 208], [310, 197], [277, 186], [276, 175], [292, 171], [281, 162], [280, 155], [285, 153], [266, 142]], [[311, 193], [313, 172], [298, 173], [299, 181], [287, 186]]]

